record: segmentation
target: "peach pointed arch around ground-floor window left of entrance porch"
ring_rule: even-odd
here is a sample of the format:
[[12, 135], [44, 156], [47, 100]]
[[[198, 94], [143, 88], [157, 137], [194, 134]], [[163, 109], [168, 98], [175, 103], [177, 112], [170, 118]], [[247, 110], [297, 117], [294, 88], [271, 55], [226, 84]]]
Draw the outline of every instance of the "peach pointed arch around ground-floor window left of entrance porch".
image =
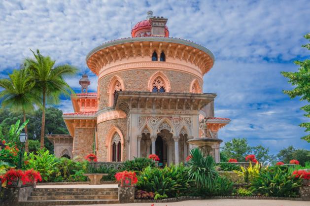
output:
[[120, 129], [118, 129], [117, 127], [113, 126], [105, 139], [105, 147], [107, 149], [107, 162], [112, 162], [112, 141], [113, 141], [113, 137], [114, 134], [117, 133], [120, 137], [120, 141], [121, 141], [121, 161], [123, 161], [123, 150], [124, 150], [124, 136], [122, 134], [122, 132], [120, 131]]

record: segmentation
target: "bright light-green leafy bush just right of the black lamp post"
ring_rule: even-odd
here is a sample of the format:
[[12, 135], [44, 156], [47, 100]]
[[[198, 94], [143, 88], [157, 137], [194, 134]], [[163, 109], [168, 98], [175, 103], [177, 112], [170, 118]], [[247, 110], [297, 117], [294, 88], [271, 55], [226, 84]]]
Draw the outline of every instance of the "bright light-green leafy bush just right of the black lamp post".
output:
[[25, 152], [25, 161], [29, 163], [25, 166], [26, 169], [34, 169], [40, 172], [43, 181], [51, 180], [52, 174], [58, 172], [57, 158], [50, 154], [48, 150], [40, 150], [34, 154], [33, 152], [27, 155]]

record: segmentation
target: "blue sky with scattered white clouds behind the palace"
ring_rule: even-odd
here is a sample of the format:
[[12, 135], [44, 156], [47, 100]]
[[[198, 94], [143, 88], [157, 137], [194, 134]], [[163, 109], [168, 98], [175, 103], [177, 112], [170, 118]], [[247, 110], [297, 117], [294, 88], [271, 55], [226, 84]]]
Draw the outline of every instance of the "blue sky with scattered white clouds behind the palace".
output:
[[[215, 55], [205, 75], [204, 92], [217, 93], [215, 115], [231, 118], [219, 137], [245, 137], [272, 153], [301, 140], [298, 124], [309, 121], [305, 104], [282, 93], [291, 89], [280, 71], [295, 71], [294, 60], [310, 58], [301, 48], [310, 32], [309, 0], [1, 0], [0, 78], [40, 49], [58, 64], [80, 69], [68, 79], [78, 92], [80, 74], [87, 72], [96, 90], [97, 78], [85, 64], [87, 53], [105, 41], [129, 37], [146, 12], [169, 18], [172, 37], [193, 40]], [[59, 105], [72, 111], [69, 100]]]

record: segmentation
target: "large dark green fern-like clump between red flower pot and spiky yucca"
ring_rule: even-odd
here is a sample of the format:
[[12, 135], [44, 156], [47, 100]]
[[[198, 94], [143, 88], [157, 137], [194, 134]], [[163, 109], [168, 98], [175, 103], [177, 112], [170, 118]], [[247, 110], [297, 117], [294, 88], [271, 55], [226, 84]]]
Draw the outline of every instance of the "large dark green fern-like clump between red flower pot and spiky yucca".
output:
[[181, 196], [189, 188], [187, 169], [183, 165], [163, 169], [148, 166], [138, 176], [137, 188], [155, 192], [158, 198]]

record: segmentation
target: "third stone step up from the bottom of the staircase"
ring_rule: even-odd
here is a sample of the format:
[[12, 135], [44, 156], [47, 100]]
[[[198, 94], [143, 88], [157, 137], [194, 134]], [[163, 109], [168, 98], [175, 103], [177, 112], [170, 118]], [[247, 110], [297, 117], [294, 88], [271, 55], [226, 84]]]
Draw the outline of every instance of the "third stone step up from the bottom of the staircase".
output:
[[116, 195], [117, 191], [103, 191], [103, 192], [32, 192], [31, 196], [76, 196], [76, 195]]

